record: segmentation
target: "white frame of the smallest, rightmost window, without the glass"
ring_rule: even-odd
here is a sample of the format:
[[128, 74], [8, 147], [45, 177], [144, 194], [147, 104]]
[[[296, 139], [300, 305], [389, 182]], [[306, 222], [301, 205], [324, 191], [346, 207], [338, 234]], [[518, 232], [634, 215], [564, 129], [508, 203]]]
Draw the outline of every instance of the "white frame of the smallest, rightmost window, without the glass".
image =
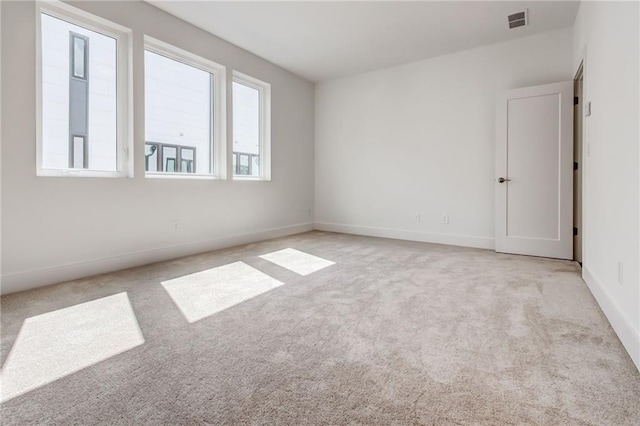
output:
[[[235, 170], [233, 180], [270, 181], [271, 180], [271, 85], [262, 80], [233, 71], [233, 81], [256, 89], [260, 94], [260, 176], [239, 176]], [[233, 98], [233, 95], [232, 95]], [[232, 99], [233, 100], [233, 99]], [[231, 108], [233, 114], [233, 106]], [[232, 120], [233, 122], [233, 120]], [[232, 129], [233, 131], [233, 129]], [[231, 138], [231, 155], [233, 155], [233, 138]], [[232, 162], [233, 164], [233, 162]]]

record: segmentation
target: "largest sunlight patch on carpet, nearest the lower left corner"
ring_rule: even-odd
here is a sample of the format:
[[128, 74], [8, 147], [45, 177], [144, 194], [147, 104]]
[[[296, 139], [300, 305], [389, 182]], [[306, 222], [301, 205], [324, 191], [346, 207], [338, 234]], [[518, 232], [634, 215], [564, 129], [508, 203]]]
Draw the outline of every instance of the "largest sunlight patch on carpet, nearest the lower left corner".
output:
[[27, 318], [0, 374], [0, 400], [5, 402], [143, 343], [127, 293]]

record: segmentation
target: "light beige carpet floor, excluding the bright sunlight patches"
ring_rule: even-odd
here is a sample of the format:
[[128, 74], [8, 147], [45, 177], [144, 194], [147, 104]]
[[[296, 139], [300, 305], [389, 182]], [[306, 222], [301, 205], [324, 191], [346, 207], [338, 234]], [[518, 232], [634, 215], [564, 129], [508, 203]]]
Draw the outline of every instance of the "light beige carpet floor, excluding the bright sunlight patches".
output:
[[[288, 248], [335, 264], [260, 257]], [[189, 323], [162, 283], [234, 262], [282, 285]], [[3, 424], [640, 424], [640, 373], [574, 263], [323, 232], [2, 297], [3, 366], [28, 318], [124, 292], [144, 343]]]

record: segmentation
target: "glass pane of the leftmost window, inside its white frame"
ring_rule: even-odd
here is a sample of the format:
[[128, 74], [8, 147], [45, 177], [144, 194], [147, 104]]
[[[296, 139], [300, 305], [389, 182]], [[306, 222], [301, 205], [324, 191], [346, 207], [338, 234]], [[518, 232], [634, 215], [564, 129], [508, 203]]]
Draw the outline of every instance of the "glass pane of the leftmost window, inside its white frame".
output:
[[82, 135], [85, 168], [116, 171], [117, 42], [44, 13], [41, 18], [42, 167], [73, 166], [71, 137]]

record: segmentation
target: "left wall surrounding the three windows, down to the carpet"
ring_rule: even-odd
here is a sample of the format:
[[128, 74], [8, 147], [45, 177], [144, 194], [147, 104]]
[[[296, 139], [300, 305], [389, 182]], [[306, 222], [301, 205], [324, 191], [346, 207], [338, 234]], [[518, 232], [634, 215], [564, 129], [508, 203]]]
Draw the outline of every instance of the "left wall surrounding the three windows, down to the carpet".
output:
[[[133, 30], [135, 175], [36, 177], [35, 5], [2, 2], [3, 292], [312, 228], [312, 83], [143, 2], [73, 5]], [[271, 182], [145, 179], [143, 34], [271, 84]]]

